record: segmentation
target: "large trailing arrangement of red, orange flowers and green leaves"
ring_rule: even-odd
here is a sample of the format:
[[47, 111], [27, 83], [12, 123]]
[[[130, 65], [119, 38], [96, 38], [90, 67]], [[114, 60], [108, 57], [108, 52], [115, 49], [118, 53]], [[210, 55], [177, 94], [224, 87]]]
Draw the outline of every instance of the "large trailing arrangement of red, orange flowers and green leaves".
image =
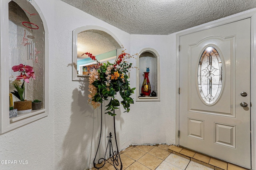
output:
[[[134, 58], [135, 55], [130, 55], [124, 52], [124, 47], [122, 47], [122, 53], [115, 60], [114, 64], [100, 63], [94, 55], [91, 53], [83, 53], [82, 55], [88, 55], [92, 60], [96, 61], [97, 64], [89, 74], [89, 100], [88, 103], [93, 106], [94, 109], [100, 106], [104, 100], [108, 100], [110, 97], [110, 102], [106, 106], [106, 113], [115, 116], [115, 109], [118, 109], [120, 103], [124, 109], [129, 112], [130, 104], [134, 101], [130, 97], [134, 94], [135, 88], [130, 88], [128, 81], [128, 75], [126, 74], [130, 68], [132, 68], [132, 63], [125, 61], [126, 59]], [[119, 92], [122, 97], [122, 101], [119, 102], [115, 98], [116, 93]], [[126, 112], [124, 111], [124, 112]]]

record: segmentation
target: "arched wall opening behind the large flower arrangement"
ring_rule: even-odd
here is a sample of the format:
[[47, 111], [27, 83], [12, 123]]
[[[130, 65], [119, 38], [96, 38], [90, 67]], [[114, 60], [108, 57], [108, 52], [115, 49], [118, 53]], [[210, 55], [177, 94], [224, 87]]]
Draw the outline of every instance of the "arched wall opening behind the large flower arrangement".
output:
[[73, 81], [88, 81], [90, 66], [96, 62], [82, 53], [92, 53], [100, 62], [116, 59], [122, 46], [116, 36], [99, 26], [82, 26], [73, 30]]

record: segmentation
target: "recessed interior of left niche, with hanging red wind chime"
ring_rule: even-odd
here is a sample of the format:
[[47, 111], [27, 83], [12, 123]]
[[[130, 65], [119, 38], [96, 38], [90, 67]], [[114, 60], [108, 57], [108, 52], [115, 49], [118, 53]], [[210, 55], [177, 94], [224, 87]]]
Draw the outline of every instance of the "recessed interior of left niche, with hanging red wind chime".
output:
[[[44, 24], [37, 10], [28, 1], [9, 2], [9, 75], [10, 82], [18, 76], [12, 66], [24, 64], [33, 67], [36, 79], [25, 84], [26, 100], [44, 102]], [[30, 50], [30, 51], [28, 51]], [[30, 54], [29, 54], [30, 53]], [[9, 91], [15, 90], [10, 83]], [[18, 99], [13, 95], [13, 101]]]

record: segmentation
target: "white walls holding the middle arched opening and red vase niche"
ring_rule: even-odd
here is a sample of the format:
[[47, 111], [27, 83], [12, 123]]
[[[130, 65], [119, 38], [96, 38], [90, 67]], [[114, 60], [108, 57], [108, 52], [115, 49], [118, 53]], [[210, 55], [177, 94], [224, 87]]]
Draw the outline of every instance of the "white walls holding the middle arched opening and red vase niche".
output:
[[[87, 104], [88, 82], [71, 81], [72, 30], [85, 25], [98, 25], [108, 29], [128, 53], [138, 53], [143, 48], [151, 47], [160, 54], [161, 102], [135, 102], [129, 113], [122, 113], [123, 109], [118, 111], [116, 131], [119, 149], [124, 149], [130, 144], [174, 143], [175, 107], [171, 106], [175, 106], [175, 103], [172, 103], [175, 102], [175, 53], [170, 54], [167, 36], [131, 36], [60, 0], [55, 2], [55, 168], [91, 167], [98, 144], [100, 112], [94, 111]], [[135, 66], [136, 61], [132, 62]], [[132, 70], [132, 87], [136, 86], [135, 75], [135, 70]], [[135, 95], [132, 97], [135, 101]], [[112, 117], [109, 115], [106, 115], [104, 127], [112, 127]], [[106, 131], [109, 132], [110, 130]], [[166, 135], [172, 137], [168, 137], [167, 141]], [[106, 138], [103, 137], [102, 140]], [[100, 149], [102, 148], [104, 147]]]

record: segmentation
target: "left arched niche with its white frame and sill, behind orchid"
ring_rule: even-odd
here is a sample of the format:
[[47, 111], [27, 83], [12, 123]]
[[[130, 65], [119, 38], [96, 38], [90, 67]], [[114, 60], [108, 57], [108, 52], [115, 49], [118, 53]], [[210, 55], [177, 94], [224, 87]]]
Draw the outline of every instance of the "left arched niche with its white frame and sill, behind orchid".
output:
[[[36, 2], [1, 0], [0, 8], [0, 133], [5, 133], [48, 115], [49, 69], [45, 56], [48, 56], [49, 43], [46, 21]], [[10, 93], [16, 90], [12, 82], [20, 74], [14, 72], [12, 66], [19, 64], [32, 66], [36, 76], [24, 84], [25, 99], [38, 99], [43, 104], [41, 109], [10, 118], [9, 107], [19, 101]]]

